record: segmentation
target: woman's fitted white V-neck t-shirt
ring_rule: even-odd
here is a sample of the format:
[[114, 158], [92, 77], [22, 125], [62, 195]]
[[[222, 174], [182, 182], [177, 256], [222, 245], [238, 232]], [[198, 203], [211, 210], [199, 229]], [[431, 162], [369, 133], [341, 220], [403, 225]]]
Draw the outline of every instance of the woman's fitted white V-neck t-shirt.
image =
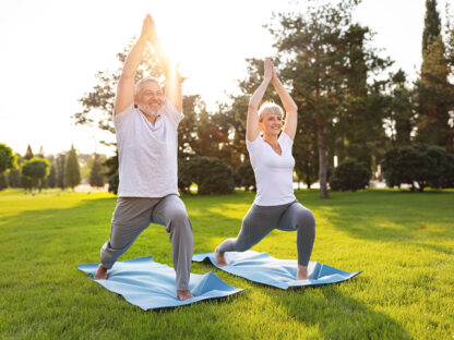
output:
[[294, 142], [283, 132], [278, 138], [279, 156], [261, 136], [254, 142], [246, 138], [249, 158], [255, 174], [256, 196], [254, 204], [275, 206], [291, 203], [294, 194], [295, 158], [291, 155]]

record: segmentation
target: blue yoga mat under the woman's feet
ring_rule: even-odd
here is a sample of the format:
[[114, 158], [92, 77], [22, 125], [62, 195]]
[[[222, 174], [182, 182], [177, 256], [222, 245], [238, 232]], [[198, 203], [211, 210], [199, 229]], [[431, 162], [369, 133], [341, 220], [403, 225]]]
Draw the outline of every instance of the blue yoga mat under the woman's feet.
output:
[[342, 282], [362, 272], [350, 272], [339, 270], [316, 262], [310, 262], [308, 265], [309, 280], [297, 280], [298, 264], [295, 259], [278, 259], [266, 253], [254, 251], [247, 252], [227, 252], [225, 257], [228, 266], [219, 267], [214, 258], [214, 253], [194, 254], [194, 262], [210, 262], [217, 268], [242, 277], [244, 279], [288, 289], [292, 287], [318, 286]]

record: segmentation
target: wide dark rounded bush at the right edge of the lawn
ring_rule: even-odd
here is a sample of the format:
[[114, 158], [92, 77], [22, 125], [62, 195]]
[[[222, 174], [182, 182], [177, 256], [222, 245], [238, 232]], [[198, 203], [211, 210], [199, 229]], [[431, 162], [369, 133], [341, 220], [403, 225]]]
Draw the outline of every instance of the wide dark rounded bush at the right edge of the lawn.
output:
[[382, 161], [383, 177], [390, 187], [410, 184], [415, 191], [425, 187], [454, 186], [454, 157], [434, 145], [416, 144], [386, 151]]

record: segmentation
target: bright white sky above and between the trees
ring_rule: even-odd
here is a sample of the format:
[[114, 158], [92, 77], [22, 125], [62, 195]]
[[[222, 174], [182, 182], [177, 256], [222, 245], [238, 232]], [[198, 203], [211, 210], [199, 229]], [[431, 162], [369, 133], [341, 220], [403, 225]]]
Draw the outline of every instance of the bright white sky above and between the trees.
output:
[[[444, 16], [449, 0], [439, 0]], [[300, 1], [303, 3], [303, 1]], [[410, 80], [421, 63], [425, 0], [363, 0], [354, 19], [368, 25], [382, 57]], [[25, 154], [74, 147], [111, 154], [99, 144], [111, 134], [74, 125], [77, 101], [96, 84], [97, 71], [117, 70], [116, 53], [154, 17], [168, 53], [188, 80], [183, 94], [200, 94], [208, 110], [226, 102], [246, 76], [247, 58], [274, 54], [263, 27], [273, 12], [300, 12], [290, 0], [15, 0], [0, 2], [0, 143]]]

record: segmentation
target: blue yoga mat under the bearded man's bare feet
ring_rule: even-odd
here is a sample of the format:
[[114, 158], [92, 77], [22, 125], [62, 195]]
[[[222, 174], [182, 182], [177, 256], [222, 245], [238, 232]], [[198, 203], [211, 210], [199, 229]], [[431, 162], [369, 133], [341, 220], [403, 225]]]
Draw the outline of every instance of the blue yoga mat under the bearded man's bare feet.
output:
[[[96, 272], [98, 264], [77, 265], [89, 277]], [[175, 270], [167, 265], [155, 263], [151, 256], [117, 262], [108, 271], [107, 280], [95, 280], [107, 290], [123, 295], [131, 304], [144, 311], [176, 307], [198, 301], [224, 298], [241, 292], [215, 274], [196, 275], [191, 272], [189, 289], [194, 298], [179, 301], [175, 288]]]

